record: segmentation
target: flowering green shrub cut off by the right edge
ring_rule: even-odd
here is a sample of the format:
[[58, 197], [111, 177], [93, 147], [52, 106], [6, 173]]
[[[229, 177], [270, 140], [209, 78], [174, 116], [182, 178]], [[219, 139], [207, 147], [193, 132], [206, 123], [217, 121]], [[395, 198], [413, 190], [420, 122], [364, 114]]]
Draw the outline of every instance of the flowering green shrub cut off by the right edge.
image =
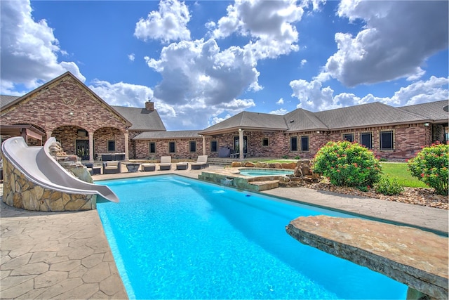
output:
[[448, 195], [449, 145], [435, 143], [408, 161], [412, 176], [434, 188], [440, 195]]

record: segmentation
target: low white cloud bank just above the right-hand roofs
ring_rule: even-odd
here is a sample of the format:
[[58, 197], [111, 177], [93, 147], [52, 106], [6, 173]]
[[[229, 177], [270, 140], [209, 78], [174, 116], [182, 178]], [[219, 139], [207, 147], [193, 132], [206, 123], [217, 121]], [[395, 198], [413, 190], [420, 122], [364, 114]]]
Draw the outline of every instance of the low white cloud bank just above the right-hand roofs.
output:
[[372, 102], [404, 106], [446, 100], [449, 96], [448, 84], [448, 78], [431, 76], [426, 81], [420, 80], [409, 86], [401, 87], [393, 96], [384, 98], [372, 94], [361, 98], [353, 93], [340, 93], [333, 96], [333, 89], [329, 86], [323, 87], [321, 81], [318, 80], [293, 80], [290, 82], [290, 87], [293, 90], [292, 96], [300, 100], [298, 108], [316, 112]]

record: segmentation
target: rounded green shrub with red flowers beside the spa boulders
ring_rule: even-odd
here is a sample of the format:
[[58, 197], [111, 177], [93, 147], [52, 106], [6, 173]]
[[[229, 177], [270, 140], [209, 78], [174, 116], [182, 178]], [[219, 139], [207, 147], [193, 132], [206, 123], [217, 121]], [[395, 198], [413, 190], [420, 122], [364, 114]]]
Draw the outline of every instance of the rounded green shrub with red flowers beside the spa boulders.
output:
[[368, 187], [380, 178], [381, 167], [373, 152], [348, 141], [328, 142], [318, 150], [313, 171], [339, 186]]

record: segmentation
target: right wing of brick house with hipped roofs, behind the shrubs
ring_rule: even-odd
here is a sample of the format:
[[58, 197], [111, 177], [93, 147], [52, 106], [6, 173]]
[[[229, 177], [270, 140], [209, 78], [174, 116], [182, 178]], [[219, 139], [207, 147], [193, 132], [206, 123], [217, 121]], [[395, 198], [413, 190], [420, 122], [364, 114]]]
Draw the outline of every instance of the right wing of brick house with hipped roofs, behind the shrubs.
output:
[[239, 156], [314, 157], [328, 141], [365, 145], [386, 159], [414, 157], [423, 146], [448, 141], [448, 100], [392, 107], [367, 103], [310, 112], [301, 108], [286, 115], [241, 112], [199, 131]]

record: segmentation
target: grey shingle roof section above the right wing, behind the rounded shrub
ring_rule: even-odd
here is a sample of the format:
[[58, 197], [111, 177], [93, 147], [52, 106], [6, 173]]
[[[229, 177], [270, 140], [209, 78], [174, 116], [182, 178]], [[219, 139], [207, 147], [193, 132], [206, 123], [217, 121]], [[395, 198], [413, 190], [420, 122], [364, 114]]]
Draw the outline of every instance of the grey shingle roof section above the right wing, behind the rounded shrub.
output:
[[427, 119], [397, 107], [379, 102], [354, 105], [315, 112], [330, 130], [378, 126], [382, 124], [403, 124], [425, 122]]

